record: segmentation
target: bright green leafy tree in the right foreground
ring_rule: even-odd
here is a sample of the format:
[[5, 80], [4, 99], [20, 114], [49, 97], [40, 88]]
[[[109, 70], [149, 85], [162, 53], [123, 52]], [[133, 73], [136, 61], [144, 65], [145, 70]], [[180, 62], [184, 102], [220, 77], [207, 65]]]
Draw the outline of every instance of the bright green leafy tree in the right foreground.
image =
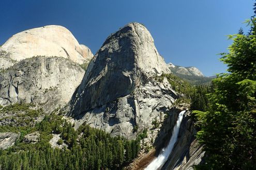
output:
[[254, 32], [231, 37], [229, 53], [221, 58], [230, 74], [213, 80], [207, 111], [193, 112], [201, 127], [197, 138], [208, 156], [200, 169], [254, 169], [256, 165], [256, 39]]

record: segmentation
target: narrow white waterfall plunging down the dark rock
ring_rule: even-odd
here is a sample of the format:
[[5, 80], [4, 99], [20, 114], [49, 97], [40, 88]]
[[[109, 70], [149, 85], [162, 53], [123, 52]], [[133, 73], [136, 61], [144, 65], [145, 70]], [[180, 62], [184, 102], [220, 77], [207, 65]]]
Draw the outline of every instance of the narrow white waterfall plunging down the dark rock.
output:
[[179, 132], [179, 127], [180, 124], [182, 123], [182, 118], [183, 118], [183, 114], [186, 112], [186, 110], [180, 112], [178, 114], [178, 120], [176, 122], [176, 125], [173, 128], [173, 132], [172, 132], [172, 138], [169, 141], [169, 144], [167, 147], [163, 148], [161, 151], [161, 154], [159, 154], [159, 156], [154, 159], [146, 168], [145, 170], [155, 170], [158, 169], [159, 167], [161, 167], [168, 159], [169, 155], [172, 152], [173, 146], [177, 141], [178, 138], [178, 132]]

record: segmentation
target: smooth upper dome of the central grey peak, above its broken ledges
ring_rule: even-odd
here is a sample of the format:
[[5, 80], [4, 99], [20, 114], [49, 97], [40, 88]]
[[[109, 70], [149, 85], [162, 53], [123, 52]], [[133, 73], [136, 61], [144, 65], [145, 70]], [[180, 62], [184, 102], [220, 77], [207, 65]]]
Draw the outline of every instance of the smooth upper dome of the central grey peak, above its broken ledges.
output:
[[105, 105], [130, 94], [146, 79], [169, 72], [146, 27], [129, 23], [112, 33], [92, 59], [71, 102], [73, 113]]

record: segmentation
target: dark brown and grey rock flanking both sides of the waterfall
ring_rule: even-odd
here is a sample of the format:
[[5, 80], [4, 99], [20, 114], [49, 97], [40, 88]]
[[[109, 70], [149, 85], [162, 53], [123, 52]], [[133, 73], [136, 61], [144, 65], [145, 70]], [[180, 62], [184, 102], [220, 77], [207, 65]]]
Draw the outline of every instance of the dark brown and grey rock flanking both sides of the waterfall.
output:
[[[165, 118], [158, 130], [158, 135], [154, 142], [154, 149], [148, 153], [141, 154], [137, 159], [133, 160], [126, 169], [145, 169], [147, 165], [160, 154], [162, 148], [168, 145], [172, 137], [172, 131], [176, 124], [178, 114], [185, 109], [188, 110], [187, 105], [180, 105], [178, 107], [173, 107], [168, 112], [168, 117]], [[195, 140], [195, 133], [197, 130], [193, 124], [190, 112], [186, 111], [182, 124], [180, 125], [177, 141], [167, 162], [165, 162], [161, 169], [192, 170], [193, 165], [198, 165], [202, 162], [204, 156], [204, 151], [202, 150], [203, 146]], [[150, 131], [147, 135], [149, 139], [152, 138]], [[146, 141], [147, 140], [143, 140], [144, 143], [146, 143]]]

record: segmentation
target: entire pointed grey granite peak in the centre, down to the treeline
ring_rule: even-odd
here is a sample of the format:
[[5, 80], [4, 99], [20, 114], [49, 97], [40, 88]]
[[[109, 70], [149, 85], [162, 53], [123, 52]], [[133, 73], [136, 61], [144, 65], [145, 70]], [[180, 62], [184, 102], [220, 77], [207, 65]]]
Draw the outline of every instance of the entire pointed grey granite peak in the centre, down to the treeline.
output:
[[130, 23], [103, 43], [70, 101], [71, 114], [115, 135], [134, 138], [134, 126], [152, 126], [177, 97], [170, 84], [154, 76], [170, 73], [149, 31]]

